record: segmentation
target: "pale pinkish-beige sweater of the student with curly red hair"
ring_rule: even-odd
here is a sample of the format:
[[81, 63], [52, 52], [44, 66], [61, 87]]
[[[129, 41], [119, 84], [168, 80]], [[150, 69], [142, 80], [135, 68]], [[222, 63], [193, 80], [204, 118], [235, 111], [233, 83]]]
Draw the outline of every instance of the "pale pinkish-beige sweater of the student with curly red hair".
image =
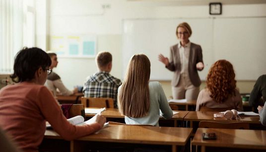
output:
[[235, 90], [235, 94], [236, 96], [229, 96], [223, 103], [217, 103], [210, 97], [210, 91], [208, 91], [208, 89], [203, 89], [199, 92], [196, 111], [199, 111], [201, 106], [208, 108], [233, 107], [237, 111], [243, 111], [242, 98], [238, 90]]

